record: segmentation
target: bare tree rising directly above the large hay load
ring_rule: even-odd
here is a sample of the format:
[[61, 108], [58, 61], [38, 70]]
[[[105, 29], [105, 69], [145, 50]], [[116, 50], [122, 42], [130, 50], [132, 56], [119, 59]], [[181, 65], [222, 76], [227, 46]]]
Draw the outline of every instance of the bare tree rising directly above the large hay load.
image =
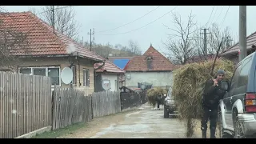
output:
[[172, 30], [174, 34], [169, 34], [169, 41], [164, 42], [166, 49], [169, 51], [168, 55], [173, 62], [185, 64], [190, 58], [194, 56], [194, 29], [196, 23], [194, 22], [194, 15], [190, 13], [188, 20], [183, 25], [180, 14], [173, 14], [174, 27], [168, 29]]

